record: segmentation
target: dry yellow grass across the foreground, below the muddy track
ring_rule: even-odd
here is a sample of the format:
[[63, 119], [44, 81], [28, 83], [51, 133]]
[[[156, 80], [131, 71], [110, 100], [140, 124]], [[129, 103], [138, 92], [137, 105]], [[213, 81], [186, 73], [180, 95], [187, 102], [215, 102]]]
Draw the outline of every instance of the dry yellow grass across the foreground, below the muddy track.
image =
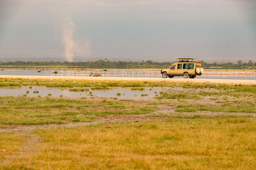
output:
[[256, 169], [255, 118], [175, 118], [37, 130], [31, 157], [3, 169]]

